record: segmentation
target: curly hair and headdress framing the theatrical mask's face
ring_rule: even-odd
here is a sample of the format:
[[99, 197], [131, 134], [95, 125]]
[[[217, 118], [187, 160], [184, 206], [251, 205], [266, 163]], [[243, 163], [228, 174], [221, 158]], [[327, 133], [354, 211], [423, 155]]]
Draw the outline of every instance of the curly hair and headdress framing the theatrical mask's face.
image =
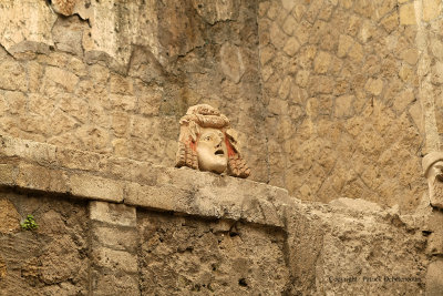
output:
[[229, 120], [217, 109], [198, 104], [190, 106], [181, 121], [181, 134], [178, 137], [178, 151], [176, 155], [176, 167], [188, 166], [198, 170], [197, 140], [200, 127], [219, 129], [225, 134], [228, 151], [227, 174], [237, 177], [248, 177], [249, 167], [238, 151], [235, 131], [229, 129]]

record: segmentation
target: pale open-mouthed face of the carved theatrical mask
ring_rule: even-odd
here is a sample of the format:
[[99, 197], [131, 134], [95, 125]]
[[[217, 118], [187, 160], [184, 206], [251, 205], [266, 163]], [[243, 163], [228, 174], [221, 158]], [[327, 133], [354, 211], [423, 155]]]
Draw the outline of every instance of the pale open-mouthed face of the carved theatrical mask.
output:
[[198, 169], [222, 174], [228, 164], [225, 134], [220, 130], [204, 127], [197, 141]]

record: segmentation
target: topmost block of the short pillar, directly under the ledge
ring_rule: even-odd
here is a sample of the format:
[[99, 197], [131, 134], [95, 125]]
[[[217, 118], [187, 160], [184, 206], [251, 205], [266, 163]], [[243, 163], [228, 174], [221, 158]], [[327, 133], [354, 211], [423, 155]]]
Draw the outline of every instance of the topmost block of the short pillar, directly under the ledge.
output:
[[90, 218], [119, 226], [136, 226], [136, 211], [133, 206], [93, 201], [90, 203]]

